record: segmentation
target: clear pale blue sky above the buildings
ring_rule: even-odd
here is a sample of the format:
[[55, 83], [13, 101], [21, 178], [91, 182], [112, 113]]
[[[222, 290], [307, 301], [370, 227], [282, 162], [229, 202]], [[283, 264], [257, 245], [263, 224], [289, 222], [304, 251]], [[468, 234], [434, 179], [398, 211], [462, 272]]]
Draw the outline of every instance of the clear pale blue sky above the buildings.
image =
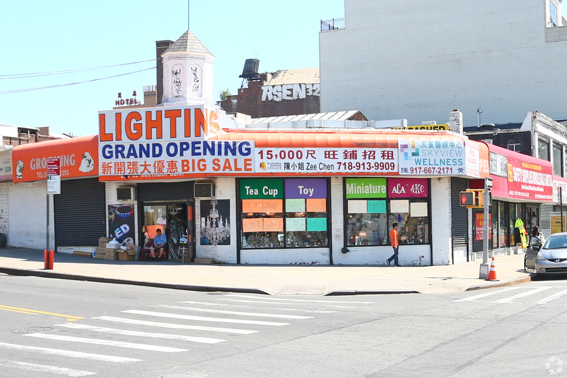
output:
[[[214, 92], [240, 87], [246, 58], [260, 71], [319, 66], [320, 19], [342, 18], [343, 0], [191, 1], [191, 31], [215, 54]], [[187, 1], [12, 1], [0, 14], [0, 75], [107, 66], [155, 58], [156, 40], [187, 30]], [[79, 82], [155, 66], [138, 63], [83, 73], [2, 79], [0, 91]], [[142, 97], [155, 70], [40, 91], [0, 94], [0, 124], [98, 132], [96, 112], [117, 93]]]

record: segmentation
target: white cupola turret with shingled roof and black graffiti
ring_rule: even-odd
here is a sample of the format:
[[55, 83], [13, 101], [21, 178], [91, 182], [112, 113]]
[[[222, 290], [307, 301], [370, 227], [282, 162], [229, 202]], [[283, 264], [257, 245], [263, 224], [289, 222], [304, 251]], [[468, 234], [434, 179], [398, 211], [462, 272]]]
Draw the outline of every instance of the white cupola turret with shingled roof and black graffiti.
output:
[[191, 31], [183, 33], [162, 58], [163, 99], [158, 106], [214, 104], [215, 56]]

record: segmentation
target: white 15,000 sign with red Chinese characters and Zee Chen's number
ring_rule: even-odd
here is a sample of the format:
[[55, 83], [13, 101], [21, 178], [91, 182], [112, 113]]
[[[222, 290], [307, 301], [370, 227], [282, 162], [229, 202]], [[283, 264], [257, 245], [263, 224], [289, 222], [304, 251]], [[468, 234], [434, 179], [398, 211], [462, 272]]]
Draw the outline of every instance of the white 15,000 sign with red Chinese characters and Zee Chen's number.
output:
[[256, 172], [397, 173], [396, 148], [256, 148]]

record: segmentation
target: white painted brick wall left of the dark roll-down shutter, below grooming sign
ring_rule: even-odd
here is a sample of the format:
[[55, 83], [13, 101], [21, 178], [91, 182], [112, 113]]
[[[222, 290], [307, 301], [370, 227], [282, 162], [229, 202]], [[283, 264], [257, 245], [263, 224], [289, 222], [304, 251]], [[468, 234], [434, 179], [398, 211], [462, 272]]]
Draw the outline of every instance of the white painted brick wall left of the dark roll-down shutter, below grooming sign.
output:
[[[46, 191], [46, 181], [9, 183], [9, 245], [45, 249]], [[49, 249], [54, 249], [53, 196], [49, 198], [49, 213]]]

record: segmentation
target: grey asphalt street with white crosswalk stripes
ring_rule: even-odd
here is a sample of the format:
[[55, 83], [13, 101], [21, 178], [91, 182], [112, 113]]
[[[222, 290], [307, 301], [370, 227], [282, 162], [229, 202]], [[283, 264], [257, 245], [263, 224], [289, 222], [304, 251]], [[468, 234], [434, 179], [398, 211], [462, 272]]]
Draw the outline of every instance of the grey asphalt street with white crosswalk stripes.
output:
[[0, 376], [561, 376], [566, 302], [550, 279], [321, 297], [0, 274]]

